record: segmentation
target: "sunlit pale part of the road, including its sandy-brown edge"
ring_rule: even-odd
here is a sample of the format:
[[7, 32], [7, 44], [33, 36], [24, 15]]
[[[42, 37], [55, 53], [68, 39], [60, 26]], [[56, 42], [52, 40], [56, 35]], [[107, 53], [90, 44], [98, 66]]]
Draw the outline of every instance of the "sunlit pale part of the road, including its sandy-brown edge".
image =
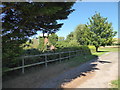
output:
[[63, 85], [64, 88], [111, 88], [111, 81], [118, 79], [118, 52], [109, 52], [101, 57], [95, 64], [96, 70], [86, 73]]

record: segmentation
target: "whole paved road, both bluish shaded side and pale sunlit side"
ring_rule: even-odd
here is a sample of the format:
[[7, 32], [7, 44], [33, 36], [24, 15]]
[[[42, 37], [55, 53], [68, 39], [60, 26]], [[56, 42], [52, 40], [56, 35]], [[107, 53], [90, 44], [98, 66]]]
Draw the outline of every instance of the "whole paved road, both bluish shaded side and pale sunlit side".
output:
[[118, 76], [118, 53], [109, 52], [43, 83], [42, 88], [108, 88]]

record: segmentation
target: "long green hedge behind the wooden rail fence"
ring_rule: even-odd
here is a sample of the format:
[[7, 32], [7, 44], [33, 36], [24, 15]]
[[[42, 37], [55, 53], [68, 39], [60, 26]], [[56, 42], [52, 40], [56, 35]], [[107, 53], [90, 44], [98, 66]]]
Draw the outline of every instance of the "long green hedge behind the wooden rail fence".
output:
[[[77, 44], [75, 41], [73, 42], [66, 42], [66, 41], [58, 41], [55, 44], [56, 49], [54, 51], [45, 51], [42, 52], [38, 49], [27, 49], [24, 50], [23, 55], [37, 55], [37, 54], [44, 54], [44, 53], [57, 53], [57, 52], [66, 52], [66, 51], [75, 51], [75, 50], [83, 50], [81, 53], [86, 53], [86, 54], [91, 54], [91, 52], [95, 51], [95, 47], [94, 46], [82, 46]], [[75, 53], [71, 53], [71, 54], [75, 54]], [[66, 57], [68, 56], [68, 53], [64, 53], [62, 54], [62, 57]], [[59, 55], [50, 55], [47, 57], [47, 59], [52, 60], [52, 59], [57, 59], [59, 58]], [[36, 63], [36, 62], [40, 62], [40, 61], [44, 61], [45, 57], [33, 57], [33, 58], [27, 58], [25, 59], [25, 64], [31, 64], [31, 63]], [[21, 61], [22, 59], [19, 59], [16, 57], [16, 59], [8, 61], [6, 63], [4, 63], [3, 69], [4, 68], [12, 68], [12, 67], [17, 67], [17, 66], [21, 66]]]

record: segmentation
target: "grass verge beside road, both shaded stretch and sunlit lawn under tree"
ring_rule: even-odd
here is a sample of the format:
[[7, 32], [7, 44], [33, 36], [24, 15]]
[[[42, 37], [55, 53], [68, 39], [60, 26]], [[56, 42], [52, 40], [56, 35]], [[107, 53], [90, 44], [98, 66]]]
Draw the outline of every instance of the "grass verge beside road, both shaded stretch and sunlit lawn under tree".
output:
[[63, 60], [61, 64], [63, 63], [68, 63], [68, 67], [76, 67], [76, 66], [79, 66], [80, 64], [83, 64], [87, 61], [90, 61], [92, 59], [95, 59], [97, 58], [98, 56], [101, 56], [107, 52], [117, 52], [118, 51], [118, 48], [108, 48], [108, 47], [100, 47], [99, 48], [99, 52], [92, 52], [91, 55], [80, 55], [80, 56], [77, 56], [77, 57], [74, 57], [74, 58], [71, 58], [71, 59], [66, 59], [66, 60]]

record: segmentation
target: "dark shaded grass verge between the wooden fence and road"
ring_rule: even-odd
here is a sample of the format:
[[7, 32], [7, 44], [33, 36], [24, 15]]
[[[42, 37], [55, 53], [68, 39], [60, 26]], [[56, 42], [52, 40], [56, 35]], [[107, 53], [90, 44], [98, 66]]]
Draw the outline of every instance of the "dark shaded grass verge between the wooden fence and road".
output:
[[[49, 64], [49, 66], [53, 66], [53, 65], [60, 65], [62, 68], [59, 68], [59, 69], [63, 69], [64, 70], [70, 70], [74, 67], [77, 67], [87, 61], [90, 61], [90, 60], [93, 60], [95, 59], [97, 56], [95, 55], [79, 55], [79, 56], [76, 56], [76, 57], [73, 57], [73, 58], [70, 58], [70, 59], [65, 59], [65, 60], [62, 60], [61, 63], [60, 62], [55, 62], [55, 63], [52, 63], [52, 64]], [[64, 71], [64, 70], [61, 70]]]

